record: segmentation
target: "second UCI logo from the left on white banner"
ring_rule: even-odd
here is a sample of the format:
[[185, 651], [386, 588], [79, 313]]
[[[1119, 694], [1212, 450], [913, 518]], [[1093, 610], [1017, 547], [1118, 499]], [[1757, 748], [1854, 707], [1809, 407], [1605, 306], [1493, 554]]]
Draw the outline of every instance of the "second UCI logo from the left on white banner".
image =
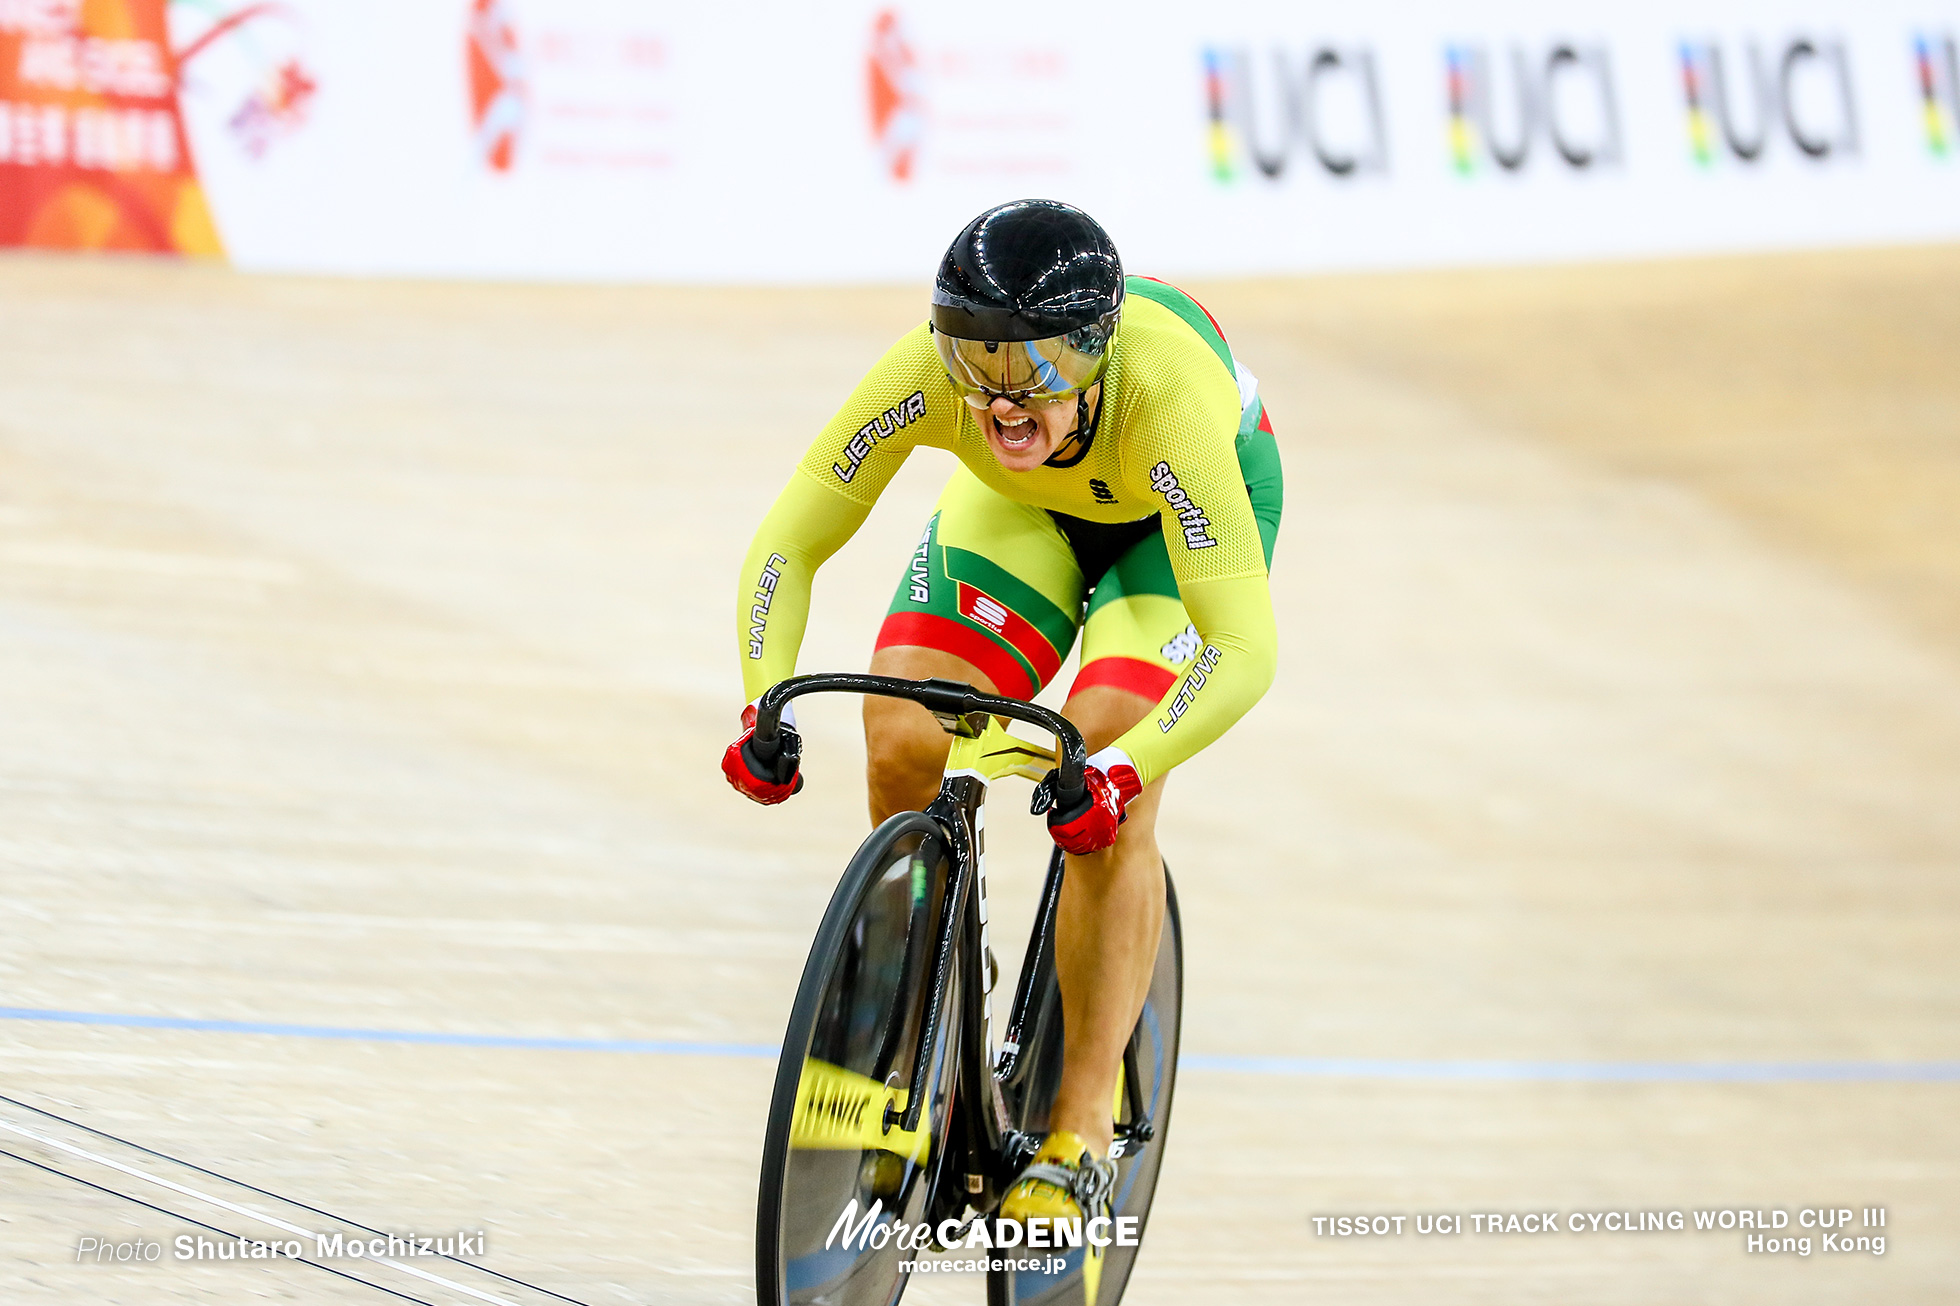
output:
[[1568, 169], [1621, 163], [1613, 61], [1603, 45], [1527, 49], [1494, 59], [1482, 45], [1443, 51], [1450, 104], [1450, 163], [1470, 175], [1478, 161], [1515, 173], [1544, 143]]

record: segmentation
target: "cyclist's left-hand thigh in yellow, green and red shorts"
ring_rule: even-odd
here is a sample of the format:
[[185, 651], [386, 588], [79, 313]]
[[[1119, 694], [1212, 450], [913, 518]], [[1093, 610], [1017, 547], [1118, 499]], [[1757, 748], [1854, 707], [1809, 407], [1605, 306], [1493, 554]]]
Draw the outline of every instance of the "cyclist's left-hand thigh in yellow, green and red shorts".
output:
[[1000, 694], [1033, 698], [1068, 657], [1080, 612], [1082, 569], [1054, 518], [960, 467], [898, 580], [878, 649], [951, 653]]

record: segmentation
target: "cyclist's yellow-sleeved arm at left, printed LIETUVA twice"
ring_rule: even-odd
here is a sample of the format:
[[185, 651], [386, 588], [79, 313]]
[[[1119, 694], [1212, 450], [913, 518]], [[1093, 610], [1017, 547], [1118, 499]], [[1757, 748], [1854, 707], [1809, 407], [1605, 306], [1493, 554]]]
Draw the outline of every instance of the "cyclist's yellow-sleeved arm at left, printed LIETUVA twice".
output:
[[762, 518], [735, 594], [735, 647], [751, 702], [796, 675], [817, 567], [857, 533], [915, 445], [949, 445], [958, 400], [945, 380], [925, 326], [907, 331], [851, 392]]

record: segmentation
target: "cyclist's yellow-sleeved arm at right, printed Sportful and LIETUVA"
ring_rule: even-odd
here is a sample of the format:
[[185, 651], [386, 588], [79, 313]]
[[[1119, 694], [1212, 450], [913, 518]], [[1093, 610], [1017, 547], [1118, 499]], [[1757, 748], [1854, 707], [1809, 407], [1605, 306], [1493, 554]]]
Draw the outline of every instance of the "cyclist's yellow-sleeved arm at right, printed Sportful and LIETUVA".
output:
[[1205, 386], [1139, 426], [1125, 449], [1125, 478], [1162, 512], [1170, 571], [1203, 639], [1156, 708], [1115, 741], [1149, 784], [1260, 700], [1278, 667], [1280, 633], [1235, 449], [1237, 394]]

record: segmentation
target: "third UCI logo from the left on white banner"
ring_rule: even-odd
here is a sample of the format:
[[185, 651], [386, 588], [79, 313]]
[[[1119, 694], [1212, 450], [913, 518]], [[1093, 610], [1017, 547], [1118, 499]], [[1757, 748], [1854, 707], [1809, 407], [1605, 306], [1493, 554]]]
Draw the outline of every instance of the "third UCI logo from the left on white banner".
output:
[[1701, 167], [1717, 153], [1758, 163], [1778, 135], [1809, 159], [1858, 153], [1842, 41], [1799, 35], [1774, 53], [1754, 39], [1740, 47], [1682, 41], [1680, 61], [1688, 143]]

